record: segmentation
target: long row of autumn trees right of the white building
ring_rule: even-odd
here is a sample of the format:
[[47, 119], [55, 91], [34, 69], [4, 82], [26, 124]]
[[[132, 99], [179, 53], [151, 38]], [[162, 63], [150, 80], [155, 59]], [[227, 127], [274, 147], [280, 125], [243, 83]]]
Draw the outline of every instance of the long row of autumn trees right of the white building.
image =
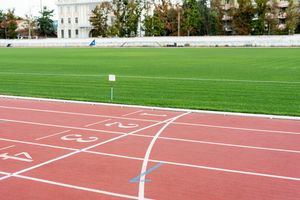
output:
[[146, 36], [300, 33], [299, 5], [287, 1], [281, 10], [276, 0], [228, 0], [227, 7], [221, 0], [184, 0], [181, 5], [170, 0], [113, 0], [100, 3], [90, 22], [94, 37], [135, 37], [141, 31]]

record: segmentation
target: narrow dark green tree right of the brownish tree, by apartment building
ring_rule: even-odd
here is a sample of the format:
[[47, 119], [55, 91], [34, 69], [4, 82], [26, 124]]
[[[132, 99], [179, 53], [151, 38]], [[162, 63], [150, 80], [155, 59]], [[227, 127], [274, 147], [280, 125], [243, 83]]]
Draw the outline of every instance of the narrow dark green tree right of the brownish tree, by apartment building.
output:
[[266, 15], [267, 15], [267, 3], [269, 0], [255, 0], [256, 8], [256, 20], [253, 25], [254, 35], [263, 35], [265, 33]]

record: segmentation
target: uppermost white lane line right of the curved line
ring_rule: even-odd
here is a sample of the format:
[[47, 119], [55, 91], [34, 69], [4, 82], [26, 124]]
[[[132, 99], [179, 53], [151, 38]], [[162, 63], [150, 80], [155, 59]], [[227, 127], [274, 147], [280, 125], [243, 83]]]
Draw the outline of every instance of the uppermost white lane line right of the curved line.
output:
[[201, 126], [201, 127], [209, 127], [209, 128], [220, 128], [220, 129], [230, 129], [230, 130], [242, 130], [242, 131], [255, 131], [255, 132], [265, 132], [265, 133], [283, 133], [283, 134], [291, 134], [291, 135], [300, 135], [300, 132], [292, 132], [292, 131], [242, 128], [242, 127], [232, 127], [232, 126], [218, 126], [218, 125], [209, 125], [209, 124], [193, 124], [193, 123], [184, 123], [184, 122], [174, 122], [173, 124], [188, 125], [188, 126]]

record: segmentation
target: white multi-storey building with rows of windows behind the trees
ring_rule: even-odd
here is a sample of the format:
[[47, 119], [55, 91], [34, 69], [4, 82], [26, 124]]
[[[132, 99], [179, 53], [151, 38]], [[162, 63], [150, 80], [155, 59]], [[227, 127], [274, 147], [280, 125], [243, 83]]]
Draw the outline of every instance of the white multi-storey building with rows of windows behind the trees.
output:
[[91, 11], [103, 0], [57, 0], [58, 38], [88, 38]]

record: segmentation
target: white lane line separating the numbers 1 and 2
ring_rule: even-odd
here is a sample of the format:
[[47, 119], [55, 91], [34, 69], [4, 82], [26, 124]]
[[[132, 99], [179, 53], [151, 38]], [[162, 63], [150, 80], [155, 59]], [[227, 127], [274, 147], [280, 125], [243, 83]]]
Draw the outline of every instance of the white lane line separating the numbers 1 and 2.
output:
[[126, 120], [145, 121], [145, 122], [157, 122], [157, 120], [149, 120], [149, 119], [116, 117], [116, 116], [109, 116], [109, 115], [97, 115], [97, 114], [66, 112], [66, 111], [57, 111], [57, 110], [44, 110], [44, 109], [34, 109], [34, 108], [24, 108], [24, 107], [13, 107], [13, 106], [0, 106], [0, 108], [12, 109], [12, 110], [23, 110], [23, 111], [47, 112], [47, 113], [56, 113], [56, 114], [66, 114], [66, 115], [78, 115], [78, 116], [89, 116], [89, 117], [104, 117], [104, 118], [113, 118], [113, 119], [126, 119]]

